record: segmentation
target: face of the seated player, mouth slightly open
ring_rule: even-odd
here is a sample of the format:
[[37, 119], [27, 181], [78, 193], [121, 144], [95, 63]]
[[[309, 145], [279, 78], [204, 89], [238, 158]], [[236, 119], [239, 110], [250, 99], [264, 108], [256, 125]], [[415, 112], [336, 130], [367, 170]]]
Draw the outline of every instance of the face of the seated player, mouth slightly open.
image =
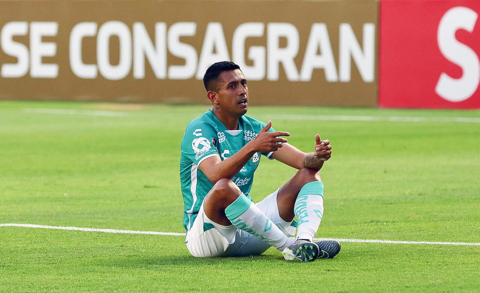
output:
[[240, 69], [220, 73], [217, 89], [220, 109], [235, 116], [247, 112], [248, 87], [247, 80]]

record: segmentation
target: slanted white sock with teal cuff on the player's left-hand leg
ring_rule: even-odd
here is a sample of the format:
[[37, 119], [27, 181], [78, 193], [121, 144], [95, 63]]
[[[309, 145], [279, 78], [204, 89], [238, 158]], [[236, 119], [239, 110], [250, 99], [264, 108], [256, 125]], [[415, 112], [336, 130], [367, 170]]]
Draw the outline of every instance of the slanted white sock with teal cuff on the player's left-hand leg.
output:
[[[276, 249], [282, 251], [289, 241], [285, 235], [250, 199], [241, 194], [226, 209], [225, 214], [232, 224], [249, 232]], [[285, 246], [285, 247], [284, 247]]]

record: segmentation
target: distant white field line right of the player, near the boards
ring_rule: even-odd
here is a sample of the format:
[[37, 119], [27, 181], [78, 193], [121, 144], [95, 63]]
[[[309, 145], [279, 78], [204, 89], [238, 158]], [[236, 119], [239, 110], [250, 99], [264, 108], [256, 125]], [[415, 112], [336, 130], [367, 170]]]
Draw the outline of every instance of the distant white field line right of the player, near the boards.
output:
[[480, 123], [473, 117], [401, 117], [401, 116], [350, 116], [350, 115], [291, 115], [275, 117], [278, 120], [324, 120], [324, 121], [387, 121], [387, 122], [466, 122]]

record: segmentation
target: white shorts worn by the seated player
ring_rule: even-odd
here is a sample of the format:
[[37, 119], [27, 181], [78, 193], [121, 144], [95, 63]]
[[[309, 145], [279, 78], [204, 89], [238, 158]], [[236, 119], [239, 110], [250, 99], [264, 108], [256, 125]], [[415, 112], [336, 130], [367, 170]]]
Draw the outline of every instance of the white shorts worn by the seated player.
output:
[[[274, 222], [288, 237], [295, 235], [297, 228], [286, 222], [278, 214], [276, 195], [278, 189], [257, 203], [257, 207]], [[252, 256], [260, 255], [270, 245], [253, 236], [249, 232], [235, 226], [222, 226], [208, 219], [204, 205], [200, 207], [198, 216], [186, 237], [187, 249], [192, 256]]]

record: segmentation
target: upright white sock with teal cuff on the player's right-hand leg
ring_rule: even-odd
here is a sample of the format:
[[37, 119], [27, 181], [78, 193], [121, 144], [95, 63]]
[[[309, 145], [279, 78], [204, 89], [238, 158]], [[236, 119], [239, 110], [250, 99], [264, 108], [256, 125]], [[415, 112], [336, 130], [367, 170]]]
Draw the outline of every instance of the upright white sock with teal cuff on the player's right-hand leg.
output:
[[313, 240], [324, 215], [324, 183], [309, 182], [300, 189], [293, 212], [299, 220], [297, 239]]

